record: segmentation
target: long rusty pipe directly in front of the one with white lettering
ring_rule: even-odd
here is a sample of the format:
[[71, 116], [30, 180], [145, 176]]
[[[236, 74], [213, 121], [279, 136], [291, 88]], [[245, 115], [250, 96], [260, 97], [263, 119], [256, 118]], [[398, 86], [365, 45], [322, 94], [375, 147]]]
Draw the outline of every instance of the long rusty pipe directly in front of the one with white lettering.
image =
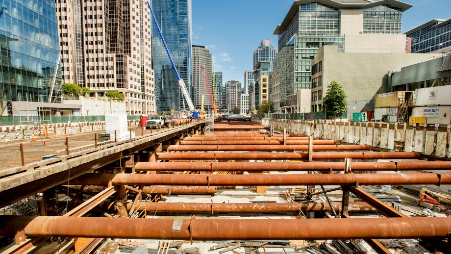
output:
[[167, 174], [85, 174], [72, 184], [107, 185], [182, 185], [182, 186], [306, 186], [306, 185], [410, 185], [450, 184], [451, 174], [283, 174], [283, 175], [167, 175]]

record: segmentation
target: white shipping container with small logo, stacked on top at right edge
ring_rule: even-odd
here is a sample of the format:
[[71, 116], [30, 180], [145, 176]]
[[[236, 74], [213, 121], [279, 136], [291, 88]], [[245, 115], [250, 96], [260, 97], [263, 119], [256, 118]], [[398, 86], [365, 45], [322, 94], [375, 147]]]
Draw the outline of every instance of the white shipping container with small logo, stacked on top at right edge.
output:
[[451, 85], [416, 90], [415, 106], [451, 105]]

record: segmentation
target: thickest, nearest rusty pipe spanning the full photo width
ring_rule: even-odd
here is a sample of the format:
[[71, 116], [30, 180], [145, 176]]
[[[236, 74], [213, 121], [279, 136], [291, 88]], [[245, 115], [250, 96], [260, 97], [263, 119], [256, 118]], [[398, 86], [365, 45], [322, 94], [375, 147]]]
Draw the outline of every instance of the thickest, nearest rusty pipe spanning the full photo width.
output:
[[[0, 216], [0, 235], [180, 240], [440, 238], [450, 218], [139, 219]], [[333, 230], [337, 229], [337, 230]]]

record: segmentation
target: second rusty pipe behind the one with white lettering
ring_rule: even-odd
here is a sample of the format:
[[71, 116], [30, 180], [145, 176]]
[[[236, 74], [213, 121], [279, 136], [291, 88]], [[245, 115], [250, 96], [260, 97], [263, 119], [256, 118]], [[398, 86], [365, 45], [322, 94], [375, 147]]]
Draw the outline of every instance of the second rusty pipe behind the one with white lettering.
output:
[[[172, 151], [306, 151], [308, 145], [193, 145], [169, 146]], [[314, 151], [370, 150], [369, 145], [313, 145]]]

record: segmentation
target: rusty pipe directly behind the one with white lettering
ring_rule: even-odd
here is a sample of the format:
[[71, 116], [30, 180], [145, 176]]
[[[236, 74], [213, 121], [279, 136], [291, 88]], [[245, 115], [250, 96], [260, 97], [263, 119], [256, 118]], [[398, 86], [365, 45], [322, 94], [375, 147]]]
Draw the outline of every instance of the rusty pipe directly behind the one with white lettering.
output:
[[[420, 159], [419, 152], [314, 152], [313, 159]], [[158, 160], [306, 160], [306, 152], [157, 152]]]

